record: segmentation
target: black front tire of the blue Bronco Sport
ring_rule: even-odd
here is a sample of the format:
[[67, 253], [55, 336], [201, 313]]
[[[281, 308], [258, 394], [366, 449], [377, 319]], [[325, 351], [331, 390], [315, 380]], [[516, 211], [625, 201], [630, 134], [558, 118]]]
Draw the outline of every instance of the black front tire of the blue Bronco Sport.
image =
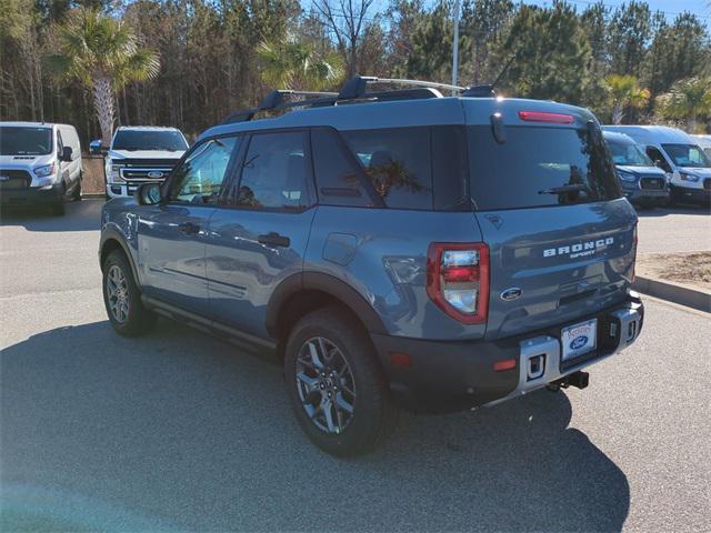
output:
[[[123, 313], [117, 313], [116, 308], [112, 309], [112, 305], [117, 303], [116, 298], [110, 295], [111, 290], [109, 289], [110, 282], [114, 280], [112, 278], [116, 274], [113, 269], [118, 269], [124, 281], [124, 283], [120, 283], [121, 300], [127, 304]], [[137, 336], [149, 331], [156, 324], [156, 314], [143, 305], [141, 292], [133, 280], [131, 265], [126, 254], [120, 250], [114, 250], [103, 262], [102, 270], [103, 304], [113, 329], [123, 336]], [[113, 283], [113, 286], [117, 286], [117, 283]]]

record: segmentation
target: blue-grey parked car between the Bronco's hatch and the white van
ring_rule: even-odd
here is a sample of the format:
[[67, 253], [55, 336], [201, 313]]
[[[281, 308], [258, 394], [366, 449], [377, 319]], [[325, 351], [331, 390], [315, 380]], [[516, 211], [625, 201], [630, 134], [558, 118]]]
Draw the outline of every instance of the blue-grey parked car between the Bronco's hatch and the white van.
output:
[[654, 167], [642, 148], [624, 133], [605, 131], [624, 197], [634, 205], [649, 208], [669, 203], [667, 174]]

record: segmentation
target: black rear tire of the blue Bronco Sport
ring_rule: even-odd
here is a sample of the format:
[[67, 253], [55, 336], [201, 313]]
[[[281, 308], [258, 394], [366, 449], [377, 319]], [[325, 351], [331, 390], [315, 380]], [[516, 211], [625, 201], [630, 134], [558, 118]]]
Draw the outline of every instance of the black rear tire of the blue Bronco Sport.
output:
[[[353, 398], [352, 414], [349, 415], [344, 411], [341, 411], [341, 414], [336, 413], [339, 425], [341, 416], [348, 418], [343, 428], [336, 433], [319, 428], [318, 422], [314, 422], [316, 416], [312, 420], [312, 416], [307, 413], [306, 402], [300, 396], [300, 386], [304, 385], [303, 383], [300, 385], [297, 379], [297, 368], [302, 365], [299, 356], [302, 349], [308, 350], [308, 342], [314, 339], [323, 339], [330, 345], [336, 346], [342, 354], [342, 360], [350, 368], [348, 386], [352, 386], [354, 391], [354, 395], [351, 396]], [[317, 372], [317, 374], [319, 373]], [[320, 379], [326, 380], [326, 375], [330, 374], [323, 372], [321, 375]], [[284, 378], [301, 429], [317, 446], [327, 453], [337, 456], [354, 456], [370, 452], [388, 436], [395, 425], [398, 411], [391, 401], [388, 382], [372, 343], [357, 319], [341, 308], [319, 309], [306, 315], [294, 325], [286, 348]], [[317, 379], [319, 378], [317, 376]], [[338, 383], [337, 379], [334, 378], [333, 383]], [[343, 394], [348, 390], [344, 379], [340, 379], [339, 384], [342, 385]], [[338, 386], [336, 390], [338, 391]], [[318, 384], [314, 384], [312, 392], [310, 392], [310, 395], [320, 395], [320, 400], [316, 399], [314, 403], [326, 400], [324, 394], [326, 391]], [[310, 408], [313, 409], [313, 405]], [[319, 409], [321, 413], [324, 412], [322, 404], [316, 411]], [[333, 409], [338, 410], [336, 405]], [[331, 413], [333, 412], [331, 411]]]

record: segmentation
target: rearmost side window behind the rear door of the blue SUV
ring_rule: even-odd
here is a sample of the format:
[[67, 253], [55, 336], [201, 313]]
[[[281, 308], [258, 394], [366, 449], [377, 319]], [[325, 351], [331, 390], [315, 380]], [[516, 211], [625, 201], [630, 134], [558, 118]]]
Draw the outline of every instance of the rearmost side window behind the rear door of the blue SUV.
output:
[[432, 209], [429, 128], [342, 132], [388, 208]]

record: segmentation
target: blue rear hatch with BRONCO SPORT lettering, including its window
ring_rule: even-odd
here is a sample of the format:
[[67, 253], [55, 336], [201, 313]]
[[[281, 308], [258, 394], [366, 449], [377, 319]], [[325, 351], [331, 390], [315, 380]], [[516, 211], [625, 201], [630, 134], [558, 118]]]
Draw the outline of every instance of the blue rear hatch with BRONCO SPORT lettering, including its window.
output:
[[509, 100], [467, 134], [472, 202], [490, 250], [487, 338], [574, 323], [622, 301], [637, 215], [594, 118]]

